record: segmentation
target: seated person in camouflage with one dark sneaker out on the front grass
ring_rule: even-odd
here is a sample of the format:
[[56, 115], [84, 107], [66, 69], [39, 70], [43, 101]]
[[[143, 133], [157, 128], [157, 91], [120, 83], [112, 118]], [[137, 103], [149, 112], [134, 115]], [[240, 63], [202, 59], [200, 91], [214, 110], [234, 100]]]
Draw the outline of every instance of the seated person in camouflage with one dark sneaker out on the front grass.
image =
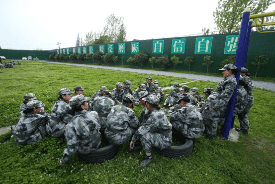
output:
[[140, 139], [145, 157], [140, 163], [141, 168], [146, 168], [152, 162], [152, 147], [167, 149], [172, 144], [172, 124], [168, 121], [164, 111], [159, 106], [159, 98], [155, 95], [146, 97], [146, 108], [150, 110], [149, 118], [132, 137], [130, 148]]

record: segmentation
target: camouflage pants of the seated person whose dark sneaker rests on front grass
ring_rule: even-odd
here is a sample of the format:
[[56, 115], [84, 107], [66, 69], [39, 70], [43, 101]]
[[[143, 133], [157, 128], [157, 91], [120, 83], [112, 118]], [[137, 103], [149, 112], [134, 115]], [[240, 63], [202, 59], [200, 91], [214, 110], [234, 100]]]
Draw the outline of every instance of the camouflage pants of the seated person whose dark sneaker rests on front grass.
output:
[[172, 144], [172, 132], [169, 137], [165, 137], [159, 133], [147, 132], [140, 138], [140, 142], [145, 153], [151, 153], [152, 147], [166, 149]]

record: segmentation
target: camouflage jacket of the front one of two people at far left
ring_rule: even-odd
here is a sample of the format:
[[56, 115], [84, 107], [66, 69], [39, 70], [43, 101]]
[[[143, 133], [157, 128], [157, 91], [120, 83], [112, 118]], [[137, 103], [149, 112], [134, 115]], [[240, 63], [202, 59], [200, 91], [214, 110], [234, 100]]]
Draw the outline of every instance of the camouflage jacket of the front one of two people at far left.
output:
[[16, 127], [14, 128], [13, 132], [17, 135], [14, 143], [31, 145], [37, 141], [41, 141], [42, 135], [38, 127], [46, 125], [49, 118], [50, 115], [48, 113], [24, 114], [24, 117], [19, 119]]

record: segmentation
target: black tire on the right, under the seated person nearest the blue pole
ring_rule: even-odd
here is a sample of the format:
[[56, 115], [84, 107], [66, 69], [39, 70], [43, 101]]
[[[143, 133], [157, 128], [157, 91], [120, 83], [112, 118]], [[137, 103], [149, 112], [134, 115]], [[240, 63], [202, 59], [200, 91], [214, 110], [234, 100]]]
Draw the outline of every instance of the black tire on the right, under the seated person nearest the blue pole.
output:
[[179, 142], [181, 142], [183, 145], [181, 146], [170, 146], [167, 149], [159, 149], [155, 148], [158, 153], [165, 157], [169, 158], [181, 158], [181, 157], [188, 157], [193, 150], [193, 140], [183, 137], [183, 135], [180, 134], [172, 134], [173, 138], [176, 138]]

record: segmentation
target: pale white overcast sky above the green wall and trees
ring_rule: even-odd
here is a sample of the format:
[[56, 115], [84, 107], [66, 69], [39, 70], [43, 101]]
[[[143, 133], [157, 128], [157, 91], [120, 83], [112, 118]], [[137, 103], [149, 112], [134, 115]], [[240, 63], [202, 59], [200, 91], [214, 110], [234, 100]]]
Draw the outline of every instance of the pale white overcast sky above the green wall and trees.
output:
[[[215, 31], [218, 0], [0, 0], [2, 49], [51, 50], [75, 47], [106, 17], [124, 18], [126, 39], [156, 39]], [[275, 4], [268, 11], [275, 10]]]

